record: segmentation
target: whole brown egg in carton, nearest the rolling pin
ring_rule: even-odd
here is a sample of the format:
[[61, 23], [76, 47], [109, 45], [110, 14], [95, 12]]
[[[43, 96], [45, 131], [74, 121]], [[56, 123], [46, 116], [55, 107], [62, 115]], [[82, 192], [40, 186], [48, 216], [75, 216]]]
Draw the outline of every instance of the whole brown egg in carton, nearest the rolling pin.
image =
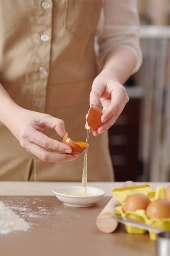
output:
[[130, 195], [130, 197], [127, 198], [125, 201], [123, 211], [131, 211], [134, 212], [139, 209], [146, 210], [148, 204], [150, 204], [150, 199], [143, 194], [134, 194]]

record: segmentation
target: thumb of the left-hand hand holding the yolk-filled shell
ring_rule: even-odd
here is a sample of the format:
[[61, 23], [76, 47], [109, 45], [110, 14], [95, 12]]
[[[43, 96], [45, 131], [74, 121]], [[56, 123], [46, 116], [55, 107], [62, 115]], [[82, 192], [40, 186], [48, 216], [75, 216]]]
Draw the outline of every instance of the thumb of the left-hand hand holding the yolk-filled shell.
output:
[[50, 115], [43, 115], [42, 116], [42, 122], [44, 123], [45, 127], [54, 129], [55, 131], [57, 131], [57, 134], [60, 137], [64, 137], [64, 135], [67, 133], [65, 131], [65, 124], [64, 121], [61, 119], [58, 119], [54, 116], [50, 116]]

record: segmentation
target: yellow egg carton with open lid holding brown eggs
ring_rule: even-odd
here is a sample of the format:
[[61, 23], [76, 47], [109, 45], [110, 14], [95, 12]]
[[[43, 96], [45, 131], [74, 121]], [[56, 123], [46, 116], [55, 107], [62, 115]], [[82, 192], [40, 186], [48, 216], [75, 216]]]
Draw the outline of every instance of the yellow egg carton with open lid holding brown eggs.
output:
[[[136, 221], [141, 221], [146, 223], [147, 225], [151, 225], [153, 227], [157, 227], [164, 230], [170, 230], [170, 218], [157, 219], [152, 218], [148, 219], [146, 215], [146, 211], [136, 210], [135, 212], [123, 212], [123, 206], [125, 204], [126, 199], [133, 194], [141, 193], [147, 195], [150, 198], [150, 201], [154, 201], [159, 198], [166, 198], [165, 188], [164, 186], [158, 186], [156, 191], [151, 188], [149, 185], [141, 185], [141, 186], [131, 186], [131, 187], [123, 187], [119, 189], [113, 189], [112, 195], [122, 204], [116, 207], [116, 213], [120, 214], [122, 217], [131, 218]], [[146, 230], [139, 229], [137, 227], [132, 227], [130, 225], [125, 225], [127, 233], [130, 234], [145, 234]], [[155, 241], [157, 234], [149, 231], [150, 239]]]

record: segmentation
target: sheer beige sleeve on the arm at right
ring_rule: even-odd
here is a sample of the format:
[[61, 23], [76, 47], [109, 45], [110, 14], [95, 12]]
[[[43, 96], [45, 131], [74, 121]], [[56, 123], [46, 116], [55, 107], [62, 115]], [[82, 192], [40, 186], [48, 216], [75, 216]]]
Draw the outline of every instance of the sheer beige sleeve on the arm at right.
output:
[[137, 0], [105, 0], [97, 28], [99, 55], [103, 60], [116, 47], [131, 49], [136, 55], [136, 73], [142, 65], [140, 21]]

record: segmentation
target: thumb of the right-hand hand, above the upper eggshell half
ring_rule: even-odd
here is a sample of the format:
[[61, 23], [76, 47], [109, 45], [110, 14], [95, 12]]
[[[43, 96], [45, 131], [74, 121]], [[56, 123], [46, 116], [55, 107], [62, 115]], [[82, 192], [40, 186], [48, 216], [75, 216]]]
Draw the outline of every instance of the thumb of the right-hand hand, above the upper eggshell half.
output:
[[90, 104], [99, 106], [100, 98], [102, 97], [104, 92], [105, 92], [105, 84], [103, 82], [99, 82], [98, 79], [95, 79], [91, 88]]

